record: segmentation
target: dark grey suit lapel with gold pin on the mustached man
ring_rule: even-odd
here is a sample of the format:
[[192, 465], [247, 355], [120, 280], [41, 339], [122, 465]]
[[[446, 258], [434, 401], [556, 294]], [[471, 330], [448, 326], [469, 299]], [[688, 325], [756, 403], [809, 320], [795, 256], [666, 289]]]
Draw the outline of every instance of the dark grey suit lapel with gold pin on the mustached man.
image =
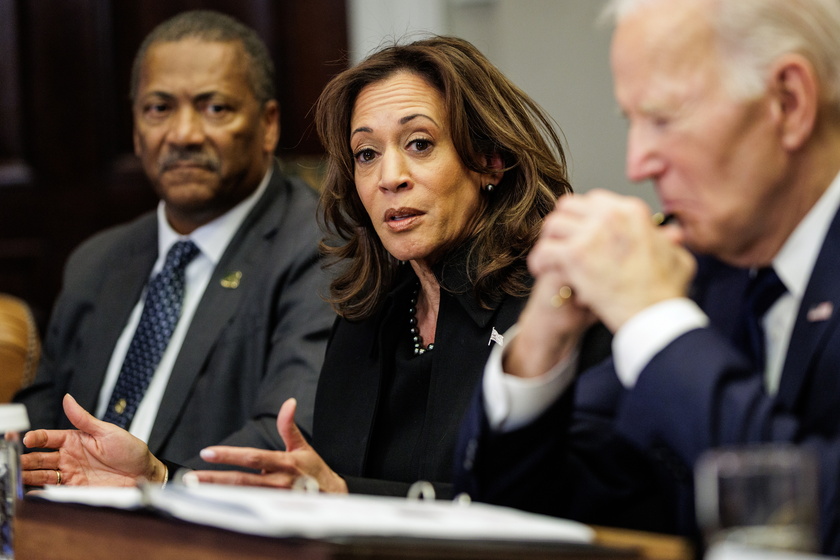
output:
[[[242, 298], [247, 296], [250, 279], [256, 277], [260, 267], [266, 266], [264, 255], [280, 223], [278, 213], [274, 211], [275, 205], [282, 204], [280, 177], [275, 169], [263, 197], [240, 226], [210, 277], [182, 344], [182, 348], [189, 348], [189, 351], [179, 352], [172, 366], [149, 434], [148, 445], [152, 453], [160, 449], [175, 427], [213, 346], [241, 307]], [[248, 222], [256, 223], [249, 227]], [[237, 275], [239, 278], [234, 287], [232, 279], [237, 272], [241, 275]]]

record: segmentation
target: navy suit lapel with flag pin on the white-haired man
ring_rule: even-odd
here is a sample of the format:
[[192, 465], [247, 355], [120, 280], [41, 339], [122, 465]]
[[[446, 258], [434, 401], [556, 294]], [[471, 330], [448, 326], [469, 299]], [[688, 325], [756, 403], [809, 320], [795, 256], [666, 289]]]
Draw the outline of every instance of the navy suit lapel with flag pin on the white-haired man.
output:
[[[814, 375], [811, 370], [822, 353], [827, 335], [837, 328], [840, 315], [837, 263], [840, 263], [840, 213], [834, 216], [814, 264], [788, 346], [778, 394], [788, 410], [796, 408], [805, 379]], [[837, 375], [835, 371], [831, 374]], [[814, 379], [809, 379], [809, 384], [821, 386]]]

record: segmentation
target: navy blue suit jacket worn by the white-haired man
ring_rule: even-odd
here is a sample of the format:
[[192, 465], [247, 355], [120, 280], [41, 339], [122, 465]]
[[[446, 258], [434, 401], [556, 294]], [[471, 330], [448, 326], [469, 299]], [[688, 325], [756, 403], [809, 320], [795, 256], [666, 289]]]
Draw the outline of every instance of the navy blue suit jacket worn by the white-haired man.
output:
[[[606, 362], [532, 425], [502, 435], [490, 433], [477, 399], [456, 461], [458, 488], [592, 523], [692, 533], [700, 454], [795, 442], [821, 453], [823, 549], [840, 553], [840, 216], [814, 266], [774, 397], [730, 342], [746, 280], [746, 271], [701, 259], [693, 297], [711, 326], [663, 349], [632, 391]], [[815, 308], [833, 312], [809, 314]], [[517, 457], [508, 456], [511, 446]]]

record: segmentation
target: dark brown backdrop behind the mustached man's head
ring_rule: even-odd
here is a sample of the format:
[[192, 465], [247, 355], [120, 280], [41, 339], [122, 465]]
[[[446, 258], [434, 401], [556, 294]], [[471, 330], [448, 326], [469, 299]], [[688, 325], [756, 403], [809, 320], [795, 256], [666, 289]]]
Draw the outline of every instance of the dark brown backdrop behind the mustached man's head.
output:
[[155, 25], [196, 8], [265, 40], [277, 155], [306, 176], [322, 155], [312, 106], [346, 67], [344, 0], [0, 0], [0, 292], [27, 301], [42, 332], [70, 251], [157, 202], [131, 144], [131, 63]]

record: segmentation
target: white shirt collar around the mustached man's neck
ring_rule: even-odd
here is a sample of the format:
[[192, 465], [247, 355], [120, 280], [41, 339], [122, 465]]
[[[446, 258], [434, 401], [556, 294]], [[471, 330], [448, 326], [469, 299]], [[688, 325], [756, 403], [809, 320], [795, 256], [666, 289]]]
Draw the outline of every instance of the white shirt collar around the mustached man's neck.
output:
[[[239, 226], [245, 220], [245, 217], [263, 195], [268, 188], [268, 182], [271, 180], [273, 173], [273, 166], [268, 167], [268, 171], [263, 177], [257, 189], [251, 193], [248, 198], [203, 226], [197, 228], [190, 235], [181, 235], [169, 225], [164, 211], [165, 202], [160, 201], [157, 207], [158, 217], [158, 255], [160, 257], [169, 252], [177, 241], [182, 239], [191, 239], [199, 249], [201, 254], [213, 262], [213, 266], [219, 263], [222, 255], [227, 249], [228, 243], [233, 239]], [[162, 266], [162, 259], [158, 258], [160, 266]]]

